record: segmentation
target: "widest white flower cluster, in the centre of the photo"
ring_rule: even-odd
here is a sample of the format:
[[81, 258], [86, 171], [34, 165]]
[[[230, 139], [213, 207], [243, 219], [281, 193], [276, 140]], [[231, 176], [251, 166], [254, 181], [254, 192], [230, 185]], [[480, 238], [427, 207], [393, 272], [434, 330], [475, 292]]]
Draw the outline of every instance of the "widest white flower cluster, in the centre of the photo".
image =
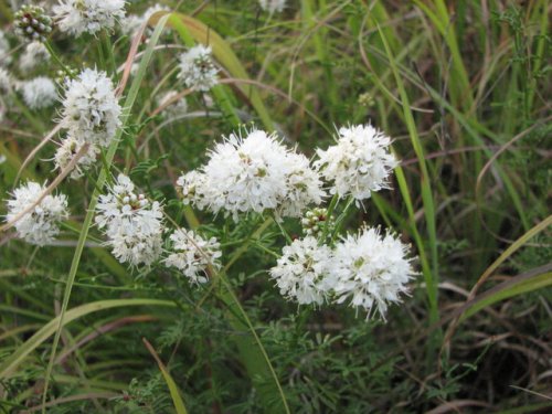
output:
[[231, 135], [210, 152], [199, 171], [181, 177], [184, 203], [217, 213], [277, 210], [282, 216], [300, 216], [309, 204], [326, 195], [307, 158], [289, 151], [275, 135], [254, 130], [242, 139]]

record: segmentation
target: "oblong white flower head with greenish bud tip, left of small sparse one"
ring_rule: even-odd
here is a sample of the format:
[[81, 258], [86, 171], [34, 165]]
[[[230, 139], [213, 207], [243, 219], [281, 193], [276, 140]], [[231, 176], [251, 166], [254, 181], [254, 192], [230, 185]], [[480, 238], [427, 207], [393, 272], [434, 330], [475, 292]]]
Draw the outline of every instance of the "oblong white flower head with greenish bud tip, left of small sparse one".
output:
[[109, 193], [98, 199], [96, 224], [104, 229], [107, 245], [120, 263], [151, 265], [162, 252], [162, 210], [135, 192], [127, 176], [119, 174]]

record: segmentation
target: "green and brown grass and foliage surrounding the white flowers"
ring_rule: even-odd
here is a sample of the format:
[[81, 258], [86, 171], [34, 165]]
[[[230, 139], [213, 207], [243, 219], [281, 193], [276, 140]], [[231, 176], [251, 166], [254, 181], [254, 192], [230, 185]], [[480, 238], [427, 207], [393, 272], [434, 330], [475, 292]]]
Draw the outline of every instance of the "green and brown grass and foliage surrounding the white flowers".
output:
[[[149, 6], [129, 1], [127, 11]], [[272, 227], [258, 238], [256, 223], [244, 221], [231, 230], [244, 241], [227, 274], [234, 302], [221, 293], [227, 286], [198, 290], [159, 269], [131, 274], [95, 242], [95, 229], [71, 282], [94, 185], [65, 182], [75, 232], [65, 230], [57, 246], [0, 234], [2, 411], [42, 410], [71, 283], [47, 412], [550, 412], [549, 1], [301, 0], [273, 15], [256, 1], [164, 6], [181, 14], [160, 36], [168, 46], [141, 61], [115, 164], [171, 200], [176, 177], [201, 164], [236, 117], [280, 131], [308, 156], [331, 142], [335, 126], [372, 123], [394, 138], [402, 163], [395, 191], [374, 194], [348, 225], [400, 232], [421, 276], [386, 322], [297, 308], [257, 272], [275, 263], [264, 250], [279, 252], [285, 241]], [[7, 33], [12, 13], [0, 0]], [[124, 65], [131, 39], [116, 32], [108, 41]], [[193, 41], [212, 44], [225, 67], [222, 97], [209, 106], [189, 95], [190, 116], [163, 118], [156, 99], [170, 85], [183, 91], [174, 67]], [[70, 66], [99, 65], [97, 39], [54, 32], [52, 44]], [[151, 52], [146, 43], [139, 51]], [[52, 62], [36, 74], [57, 70]], [[57, 117], [55, 108], [11, 109], [0, 124], [2, 199]], [[22, 178], [52, 181], [44, 159], [54, 148], [44, 146]], [[178, 202], [167, 209], [178, 216]], [[229, 225], [199, 216], [206, 230]]]

